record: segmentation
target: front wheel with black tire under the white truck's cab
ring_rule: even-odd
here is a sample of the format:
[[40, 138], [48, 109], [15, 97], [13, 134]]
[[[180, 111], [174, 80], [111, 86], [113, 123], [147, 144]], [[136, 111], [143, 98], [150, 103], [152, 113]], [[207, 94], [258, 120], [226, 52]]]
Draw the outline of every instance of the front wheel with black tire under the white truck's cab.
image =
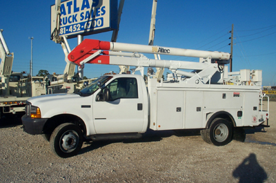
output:
[[59, 157], [77, 155], [83, 144], [81, 128], [75, 124], [61, 124], [55, 128], [50, 137], [50, 148]]

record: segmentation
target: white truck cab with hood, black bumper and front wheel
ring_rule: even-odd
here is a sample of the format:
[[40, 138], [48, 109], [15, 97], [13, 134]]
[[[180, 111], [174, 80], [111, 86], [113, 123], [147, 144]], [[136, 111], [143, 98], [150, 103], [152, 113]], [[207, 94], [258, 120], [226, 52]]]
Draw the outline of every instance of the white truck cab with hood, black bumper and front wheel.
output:
[[[146, 84], [141, 75], [104, 75], [78, 93], [32, 97], [22, 122], [27, 133], [50, 140], [57, 155], [71, 156], [79, 151], [76, 144], [82, 144], [83, 137], [146, 132]], [[75, 145], [66, 146], [68, 141]], [[57, 146], [60, 143], [63, 146]]]

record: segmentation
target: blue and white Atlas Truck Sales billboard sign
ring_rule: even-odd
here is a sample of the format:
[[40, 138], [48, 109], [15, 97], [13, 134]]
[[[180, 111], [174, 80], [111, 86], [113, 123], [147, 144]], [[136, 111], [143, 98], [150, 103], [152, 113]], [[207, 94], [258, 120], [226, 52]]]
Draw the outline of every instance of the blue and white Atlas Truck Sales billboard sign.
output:
[[[117, 0], [68, 0], [61, 2], [59, 35], [68, 38], [117, 29]], [[51, 33], [55, 30], [55, 5], [51, 6]]]

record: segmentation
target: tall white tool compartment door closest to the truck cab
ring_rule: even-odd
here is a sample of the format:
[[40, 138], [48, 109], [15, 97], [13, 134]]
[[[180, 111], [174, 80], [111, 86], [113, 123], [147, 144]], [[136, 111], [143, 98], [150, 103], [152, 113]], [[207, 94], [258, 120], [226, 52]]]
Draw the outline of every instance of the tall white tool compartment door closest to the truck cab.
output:
[[184, 91], [157, 91], [157, 130], [184, 127]]

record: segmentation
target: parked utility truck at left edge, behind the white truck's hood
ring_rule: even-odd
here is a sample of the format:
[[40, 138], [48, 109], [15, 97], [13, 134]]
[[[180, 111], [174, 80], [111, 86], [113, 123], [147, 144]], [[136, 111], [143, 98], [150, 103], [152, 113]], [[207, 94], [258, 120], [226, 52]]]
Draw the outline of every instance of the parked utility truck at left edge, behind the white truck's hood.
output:
[[14, 53], [10, 52], [0, 30], [0, 117], [24, 113], [26, 100], [46, 94], [43, 77], [24, 78], [23, 73], [12, 73]]

